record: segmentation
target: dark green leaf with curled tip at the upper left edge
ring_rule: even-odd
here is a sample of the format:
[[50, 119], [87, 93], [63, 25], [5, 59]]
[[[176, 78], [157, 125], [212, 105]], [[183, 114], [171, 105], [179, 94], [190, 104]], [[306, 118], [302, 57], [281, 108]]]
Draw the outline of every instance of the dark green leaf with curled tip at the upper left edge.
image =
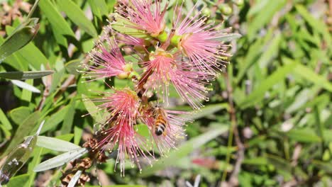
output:
[[8, 38], [0, 45], [0, 63], [9, 55], [26, 46], [33, 40], [38, 31], [38, 18], [31, 18], [23, 22]]

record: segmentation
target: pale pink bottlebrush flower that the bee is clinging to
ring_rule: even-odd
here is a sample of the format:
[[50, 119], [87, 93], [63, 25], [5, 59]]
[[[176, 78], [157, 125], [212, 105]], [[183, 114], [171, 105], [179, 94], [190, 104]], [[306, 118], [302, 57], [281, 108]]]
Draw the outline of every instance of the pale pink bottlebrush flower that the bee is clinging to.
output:
[[[165, 113], [165, 132], [163, 135], [156, 135], [155, 134], [155, 125], [157, 120], [157, 115], [160, 115], [157, 111]], [[154, 145], [160, 155], [165, 156], [170, 149], [177, 149], [177, 143], [179, 140], [184, 139], [186, 136], [184, 132], [183, 126], [186, 122], [191, 120], [186, 118], [181, 118], [178, 115], [180, 114], [188, 114], [187, 112], [182, 111], [169, 111], [164, 110], [162, 108], [145, 108], [143, 111], [143, 115], [141, 115], [142, 121], [148, 125], [150, 130], [150, 141], [152, 145]]]

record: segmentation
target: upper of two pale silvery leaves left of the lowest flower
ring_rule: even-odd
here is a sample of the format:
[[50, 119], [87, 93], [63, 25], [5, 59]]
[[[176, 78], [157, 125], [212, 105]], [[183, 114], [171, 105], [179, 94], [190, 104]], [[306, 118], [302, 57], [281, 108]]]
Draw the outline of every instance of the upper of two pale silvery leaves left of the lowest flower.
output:
[[45, 137], [45, 136], [38, 136], [37, 145], [39, 147], [44, 147], [46, 149], [51, 149], [57, 152], [69, 152], [72, 151], [73, 149], [80, 148], [78, 145], [74, 145], [71, 142], [60, 140], [54, 137]]

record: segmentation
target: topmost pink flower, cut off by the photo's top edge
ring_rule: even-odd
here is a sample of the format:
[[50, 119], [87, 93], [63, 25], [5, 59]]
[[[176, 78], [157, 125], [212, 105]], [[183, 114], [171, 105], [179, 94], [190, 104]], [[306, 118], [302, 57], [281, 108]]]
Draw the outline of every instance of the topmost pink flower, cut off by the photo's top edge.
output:
[[128, 6], [118, 9], [118, 13], [128, 18], [131, 23], [128, 27], [145, 30], [153, 37], [157, 37], [165, 29], [165, 12], [167, 6], [162, 10], [161, 1], [132, 0]]

